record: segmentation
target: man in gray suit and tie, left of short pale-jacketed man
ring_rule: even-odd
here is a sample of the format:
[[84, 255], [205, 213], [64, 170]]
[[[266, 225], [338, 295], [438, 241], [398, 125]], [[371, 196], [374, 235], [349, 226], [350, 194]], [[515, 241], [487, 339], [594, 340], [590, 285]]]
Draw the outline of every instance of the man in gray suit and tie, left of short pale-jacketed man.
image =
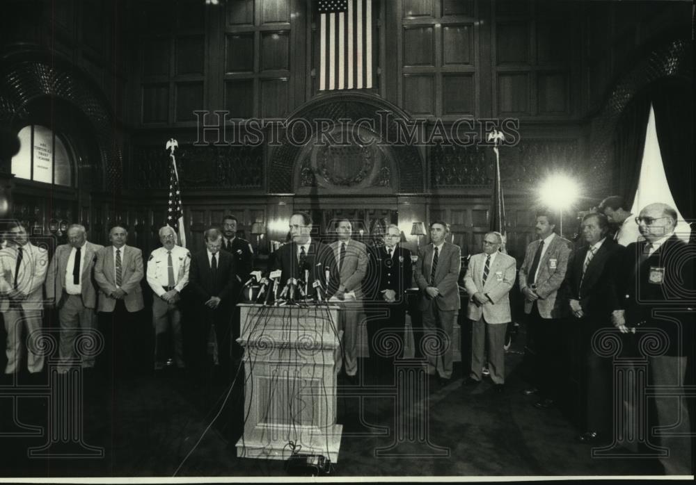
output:
[[421, 290], [418, 308], [423, 313], [423, 336], [421, 345], [428, 340], [437, 345], [428, 345], [427, 373], [438, 373], [441, 381], [452, 377], [452, 331], [459, 314], [459, 270], [461, 249], [445, 242], [449, 227], [441, 221], [430, 224], [430, 242], [418, 254], [416, 284]]

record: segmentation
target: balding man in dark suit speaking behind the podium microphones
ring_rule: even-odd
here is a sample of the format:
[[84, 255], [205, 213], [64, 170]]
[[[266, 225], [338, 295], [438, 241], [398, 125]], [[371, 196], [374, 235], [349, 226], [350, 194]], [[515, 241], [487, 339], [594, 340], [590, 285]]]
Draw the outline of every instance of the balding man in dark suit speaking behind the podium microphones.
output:
[[[313, 284], [319, 281], [323, 288], [323, 297], [329, 298], [336, 293], [340, 283], [338, 265], [333, 256], [333, 249], [318, 240], [313, 240], [311, 232], [312, 217], [304, 212], [293, 213], [290, 216], [292, 242], [278, 249], [272, 269], [283, 272], [280, 275], [280, 286], [286, 286], [292, 279], [304, 281], [307, 278], [304, 282], [308, 297], [313, 298], [317, 295], [317, 289]], [[329, 281], [326, 281], [327, 270]]]

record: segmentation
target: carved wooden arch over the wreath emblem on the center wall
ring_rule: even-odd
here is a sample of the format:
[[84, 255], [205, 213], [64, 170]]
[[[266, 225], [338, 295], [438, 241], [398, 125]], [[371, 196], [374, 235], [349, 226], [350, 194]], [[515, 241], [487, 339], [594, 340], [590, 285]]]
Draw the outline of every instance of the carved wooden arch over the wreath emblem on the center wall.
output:
[[[381, 113], [381, 114], [380, 114]], [[390, 113], [387, 116], [385, 113]], [[315, 125], [318, 120], [332, 120], [339, 124], [339, 120], [348, 119], [356, 122], [366, 120], [365, 126], [370, 122], [372, 126], [379, 127], [372, 133], [375, 138], [382, 140], [384, 145], [382, 152], [387, 153], [386, 158], [393, 161], [398, 170], [399, 193], [420, 193], [425, 190], [426, 176], [425, 164], [418, 149], [412, 145], [397, 145], [387, 143], [388, 140], [397, 140], [397, 134], [402, 128], [400, 120], [410, 121], [411, 117], [397, 106], [372, 94], [363, 93], [331, 93], [322, 94], [295, 110], [287, 117], [288, 126], [296, 131], [304, 131], [305, 126], [292, 123], [292, 120], [307, 120], [310, 125]], [[290, 133], [293, 136], [293, 133]], [[294, 135], [295, 139], [301, 139], [302, 134]], [[288, 140], [287, 133], [280, 140], [280, 146], [274, 149], [269, 161], [269, 192], [287, 194], [294, 192], [295, 170], [301, 168], [299, 158], [306, 151], [306, 145], [296, 146]]]

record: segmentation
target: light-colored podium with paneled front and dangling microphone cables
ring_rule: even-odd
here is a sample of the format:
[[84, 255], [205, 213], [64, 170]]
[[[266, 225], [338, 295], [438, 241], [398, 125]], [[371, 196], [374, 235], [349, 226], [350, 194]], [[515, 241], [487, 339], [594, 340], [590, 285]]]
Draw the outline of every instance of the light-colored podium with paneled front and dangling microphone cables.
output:
[[293, 443], [337, 463], [338, 306], [238, 306], [246, 420], [237, 457], [284, 460]]

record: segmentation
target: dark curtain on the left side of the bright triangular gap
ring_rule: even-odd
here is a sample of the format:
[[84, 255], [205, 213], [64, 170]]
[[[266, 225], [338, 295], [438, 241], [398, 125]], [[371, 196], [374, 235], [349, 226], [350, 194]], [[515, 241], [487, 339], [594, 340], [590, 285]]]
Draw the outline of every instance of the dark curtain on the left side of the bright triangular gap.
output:
[[626, 211], [631, 210], [638, 189], [649, 114], [650, 97], [646, 90], [638, 93], [624, 108], [612, 138], [614, 192], [624, 197]]

